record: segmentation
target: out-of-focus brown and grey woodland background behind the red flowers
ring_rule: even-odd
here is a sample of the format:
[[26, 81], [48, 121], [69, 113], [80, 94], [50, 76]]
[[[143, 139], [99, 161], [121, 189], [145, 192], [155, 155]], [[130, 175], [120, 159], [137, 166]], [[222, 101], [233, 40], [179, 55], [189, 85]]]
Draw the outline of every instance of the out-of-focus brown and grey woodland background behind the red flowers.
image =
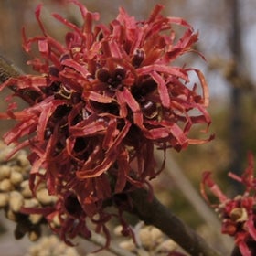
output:
[[[26, 27], [28, 36], [40, 33], [34, 10], [39, 3], [44, 4], [42, 20], [50, 34], [63, 40], [63, 29], [51, 13], [58, 12], [72, 19], [78, 9], [58, 0], [1, 0], [0, 1], [0, 53], [11, 59], [25, 72], [31, 72], [26, 62], [29, 57], [21, 47], [21, 29]], [[205, 58], [187, 55], [187, 65], [201, 69], [210, 90], [209, 112], [212, 116], [210, 133], [214, 141], [205, 145], [189, 146], [182, 153], [171, 152], [175, 165], [184, 177], [163, 173], [155, 181], [157, 197], [192, 227], [206, 232], [202, 215], [188, 198], [187, 182], [199, 191], [201, 174], [205, 170], [214, 176], [230, 195], [240, 192], [241, 187], [227, 178], [232, 171], [240, 174], [247, 166], [247, 154], [256, 152], [256, 2], [254, 0], [87, 0], [82, 1], [91, 11], [101, 14], [101, 22], [108, 23], [117, 16], [123, 6], [127, 12], [141, 20], [146, 18], [155, 4], [165, 5], [165, 16], [181, 16], [199, 32], [197, 50]], [[78, 20], [80, 17], [76, 17]], [[1, 94], [0, 110], [5, 111], [5, 95]], [[1, 121], [0, 134], [3, 135], [10, 123]], [[201, 129], [199, 127], [198, 129]], [[197, 136], [197, 128], [193, 131]], [[167, 166], [172, 168], [172, 166]], [[168, 176], [166, 178], [166, 176]], [[185, 180], [183, 179], [185, 178]], [[192, 199], [193, 200], [193, 199]], [[4, 224], [3, 224], [4, 225]], [[5, 225], [4, 225], [5, 226]], [[15, 240], [14, 238], [10, 238]], [[5, 239], [0, 237], [0, 248]], [[2, 244], [2, 245], [1, 245]], [[20, 251], [17, 253], [21, 253]], [[11, 255], [11, 254], [10, 254]], [[23, 254], [13, 254], [23, 255]]]

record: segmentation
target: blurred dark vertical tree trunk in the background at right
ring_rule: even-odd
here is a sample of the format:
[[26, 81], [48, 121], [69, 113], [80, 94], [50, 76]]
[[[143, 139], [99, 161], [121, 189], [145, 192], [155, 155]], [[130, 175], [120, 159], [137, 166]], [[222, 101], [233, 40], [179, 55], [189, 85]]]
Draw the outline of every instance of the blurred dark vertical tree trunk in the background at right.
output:
[[[230, 148], [232, 154], [232, 162], [230, 170], [237, 175], [242, 170], [243, 148], [243, 120], [242, 120], [242, 85], [239, 84], [241, 76], [240, 67], [242, 66], [242, 50], [241, 50], [241, 28], [240, 28], [240, 2], [239, 0], [228, 0], [230, 10], [230, 28], [229, 42], [230, 51], [233, 60], [233, 69], [230, 73]], [[240, 192], [237, 182], [233, 183], [234, 192]]]

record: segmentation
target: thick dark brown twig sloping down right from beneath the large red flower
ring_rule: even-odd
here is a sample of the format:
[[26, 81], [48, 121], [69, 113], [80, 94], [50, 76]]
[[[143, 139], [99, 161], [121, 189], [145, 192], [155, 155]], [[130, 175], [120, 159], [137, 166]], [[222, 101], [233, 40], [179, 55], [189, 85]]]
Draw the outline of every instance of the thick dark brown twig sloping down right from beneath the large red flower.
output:
[[144, 189], [131, 192], [131, 197], [133, 199], [133, 214], [144, 220], [146, 224], [154, 225], [162, 230], [191, 255], [220, 256], [219, 252], [209, 247], [205, 240], [165, 208], [155, 197], [149, 201], [148, 192]]

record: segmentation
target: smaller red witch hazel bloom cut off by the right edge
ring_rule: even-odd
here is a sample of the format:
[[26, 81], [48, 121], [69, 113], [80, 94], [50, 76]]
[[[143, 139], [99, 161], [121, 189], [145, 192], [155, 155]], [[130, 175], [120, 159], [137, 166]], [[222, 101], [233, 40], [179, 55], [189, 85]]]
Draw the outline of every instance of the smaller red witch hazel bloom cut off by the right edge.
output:
[[234, 237], [243, 256], [253, 256], [256, 253], [256, 178], [253, 170], [253, 156], [249, 155], [249, 166], [242, 176], [229, 173], [231, 178], [245, 186], [243, 195], [234, 198], [222, 193], [209, 172], [204, 173], [201, 187], [202, 195], [208, 202], [205, 187], [209, 187], [213, 195], [219, 198], [219, 204], [211, 206], [216, 208], [222, 219], [222, 233]]

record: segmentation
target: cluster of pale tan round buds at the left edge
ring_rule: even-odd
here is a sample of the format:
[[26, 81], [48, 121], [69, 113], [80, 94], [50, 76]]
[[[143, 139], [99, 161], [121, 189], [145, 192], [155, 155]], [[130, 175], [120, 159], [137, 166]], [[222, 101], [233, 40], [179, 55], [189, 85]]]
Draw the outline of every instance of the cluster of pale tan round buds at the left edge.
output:
[[[32, 195], [28, 182], [31, 166], [27, 153], [19, 151], [6, 160], [12, 150], [13, 146], [0, 142], [0, 209], [5, 211], [7, 219], [16, 222], [16, 239], [28, 234], [29, 240], [37, 240], [41, 235], [41, 224], [46, 223], [46, 219], [41, 214], [23, 214], [21, 208], [52, 206], [56, 197], [48, 195], [43, 183], [37, 187], [36, 195]], [[59, 225], [59, 219], [53, 221], [53, 225]]]

